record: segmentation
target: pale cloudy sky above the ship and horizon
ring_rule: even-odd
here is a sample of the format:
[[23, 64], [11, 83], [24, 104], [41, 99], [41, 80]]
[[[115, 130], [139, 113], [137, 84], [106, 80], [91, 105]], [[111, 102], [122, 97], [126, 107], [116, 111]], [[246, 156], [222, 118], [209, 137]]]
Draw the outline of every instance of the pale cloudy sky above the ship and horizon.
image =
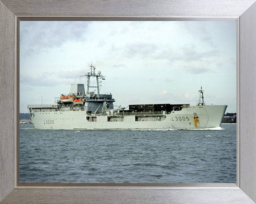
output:
[[20, 21], [20, 113], [86, 84], [91, 64], [117, 106], [196, 105], [202, 86], [236, 112], [235, 21]]

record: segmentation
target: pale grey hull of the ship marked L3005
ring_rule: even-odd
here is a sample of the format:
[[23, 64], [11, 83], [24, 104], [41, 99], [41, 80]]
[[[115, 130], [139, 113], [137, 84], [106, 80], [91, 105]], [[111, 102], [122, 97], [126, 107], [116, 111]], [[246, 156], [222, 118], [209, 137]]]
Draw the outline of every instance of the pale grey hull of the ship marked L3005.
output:
[[43, 111], [31, 117], [36, 129], [204, 129], [219, 127], [226, 105], [191, 106], [155, 115], [87, 115], [86, 111]]

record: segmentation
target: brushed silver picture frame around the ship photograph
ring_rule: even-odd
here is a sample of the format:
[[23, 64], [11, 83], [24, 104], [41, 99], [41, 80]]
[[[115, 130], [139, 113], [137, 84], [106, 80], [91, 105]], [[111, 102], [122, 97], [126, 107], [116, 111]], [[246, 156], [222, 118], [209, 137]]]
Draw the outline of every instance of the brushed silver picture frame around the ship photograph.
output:
[[[255, 0], [40, 1], [0, 0], [0, 203], [254, 203], [256, 201]], [[19, 186], [16, 134], [19, 106], [18, 18], [229, 20], [237, 29], [237, 183], [135, 186]], [[254, 144], [254, 145], [253, 145]]]

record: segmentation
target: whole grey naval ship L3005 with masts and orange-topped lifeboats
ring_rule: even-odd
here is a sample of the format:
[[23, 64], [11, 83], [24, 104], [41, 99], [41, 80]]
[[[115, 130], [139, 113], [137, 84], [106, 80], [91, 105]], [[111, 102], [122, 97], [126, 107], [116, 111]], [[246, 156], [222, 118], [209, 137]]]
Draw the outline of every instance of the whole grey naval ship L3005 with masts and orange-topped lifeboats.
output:
[[[61, 94], [54, 104], [28, 105], [35, 129], [206, 129], [219, 127], [226, 105], [205, 105], [203, 90], [199, 101], [190, 104], [133, 104], [116, 107], [112, 94], [100, 94], [105, 76], [95, 66], [80, 77], [84, 84], [71, 84], [68, 95]], [[91, 78], [96, 78], [92, 86]], [[91, 91], [94, 89], [94, 91]], [[97, 92], [96, 92], [97, 89]]]

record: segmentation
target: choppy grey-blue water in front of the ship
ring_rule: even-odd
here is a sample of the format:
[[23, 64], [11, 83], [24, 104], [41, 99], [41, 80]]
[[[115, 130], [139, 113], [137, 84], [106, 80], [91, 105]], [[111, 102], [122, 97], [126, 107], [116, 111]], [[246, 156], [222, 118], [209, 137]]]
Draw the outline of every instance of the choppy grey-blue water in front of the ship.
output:
[[20, 124], [21, 183], [235, 183], [236, 125], [36, 130]]

